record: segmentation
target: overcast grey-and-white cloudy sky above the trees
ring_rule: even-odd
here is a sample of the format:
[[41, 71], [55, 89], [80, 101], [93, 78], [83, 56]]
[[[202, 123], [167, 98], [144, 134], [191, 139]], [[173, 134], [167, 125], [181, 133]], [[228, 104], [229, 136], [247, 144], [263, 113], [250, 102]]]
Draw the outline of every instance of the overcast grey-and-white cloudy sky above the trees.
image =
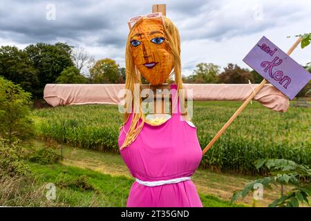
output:
[[[311, 32], [310, 0], [0, 0], [0, 45], [62, 41], [124, 66], [127, 21], [150, 13], [155, 3], [167, 4], [167, 17], [179, 29], [186, 76], [200, 62], [248, 67], [242, 60], [263, 35], [286, 52], [294, 35]], [[292, 58], [302, 65], [310, 62], [311, 46], [297, 48]]]

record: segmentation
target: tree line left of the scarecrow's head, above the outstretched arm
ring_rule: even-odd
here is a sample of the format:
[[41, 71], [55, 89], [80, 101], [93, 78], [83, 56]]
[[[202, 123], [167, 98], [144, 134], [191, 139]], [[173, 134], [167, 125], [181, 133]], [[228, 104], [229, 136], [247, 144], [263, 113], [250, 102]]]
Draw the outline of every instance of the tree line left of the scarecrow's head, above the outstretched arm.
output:
[[0, 76], [19, 84], [33, 99], [42, 99], [46, 84], [124, 83], [125, 70], [113, 59], [95, 62], [83, 48], [37, 43], [23, 50], [1, 46]]

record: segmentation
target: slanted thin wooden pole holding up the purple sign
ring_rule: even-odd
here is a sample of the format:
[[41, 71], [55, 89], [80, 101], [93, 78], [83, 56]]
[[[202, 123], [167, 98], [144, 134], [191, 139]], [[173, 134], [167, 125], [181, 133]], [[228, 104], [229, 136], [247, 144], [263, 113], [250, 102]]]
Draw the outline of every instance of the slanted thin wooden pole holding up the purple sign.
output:
[[[299, 37], [299, 39], [296, 40], [296, 42], [292, 45], [292, 47], [290, 47], [290, 50], [288, 50], [287, 54], [290, 55], [293, 52], [293, 50], [296, 48], [296, 46], [299, 45], [300, 42], [301, 42], [301, 37]], [[234, 121], [234, 119], [236, 119], [236, 117], [238, 117], [238, 115], [243, 111], [245, 106], [247, 106], [247, 104], [253, 99], [253, 97], [256, 95], [256, 93], [258, 93], [258, 91], [261, 90], [261, 88], [263, 88], [263, 86], [265, 85], [266, 82], [267, 81], [265, 79], [263, 79], [263, 81], [261, 81], [261, 84], [259, 84], [258, 87], [255, 88], [254, 92], [252, 92], [252, 94], [249, 95], [249, 97], [247, 97], [245, 102], [238, 108], [236, 113], [234, 113], [234, 115], [232, 115], [232, 117], [230, 117], [230, 119], [223, 126], [223, 128], [221, 128], [220, 131], [218, 131], [218, 133], [211, 140], [211, 142], [209, 142], [209, 144], [207, 144], [207, 146], [203, 149], [202, 155], [205, 155], [205, 153], [209, 150], [209, 148], [211, 148], [211, 146], [213, 146], [213, 144], [216, 142], [216, 140], [218, 140], [220, 135], [222, 135], [225, 132], [225, 130], [228, 128], [228, 126]]]

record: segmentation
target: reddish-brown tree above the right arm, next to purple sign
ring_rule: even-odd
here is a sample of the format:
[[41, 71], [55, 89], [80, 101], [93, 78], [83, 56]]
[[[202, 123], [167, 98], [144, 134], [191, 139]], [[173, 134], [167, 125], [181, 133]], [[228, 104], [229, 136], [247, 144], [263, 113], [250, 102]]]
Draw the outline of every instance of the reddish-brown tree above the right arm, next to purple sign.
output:
[[254, 78], [249, 73], [249, 70], [231, 63], [224, 68], [223, 73], [218, 75], [218, 83], [223, 84], [248, 84], [249, 81], [254, 83]]

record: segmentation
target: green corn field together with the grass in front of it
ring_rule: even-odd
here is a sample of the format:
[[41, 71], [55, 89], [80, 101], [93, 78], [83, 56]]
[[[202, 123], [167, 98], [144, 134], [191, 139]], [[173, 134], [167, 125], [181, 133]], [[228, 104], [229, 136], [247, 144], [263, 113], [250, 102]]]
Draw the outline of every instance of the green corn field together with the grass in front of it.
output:
[[[194, 102], [193, 122], [202, 148], [240, 105], [241, 102]], [[57, 187], [60, 205], [126, 205], [134, 180], [118, 153], [122, 114], [117, 112], [117, 106], [43, 108], [33, 111], [32, 117], [38, 138], [62, 146], [65, 158], [61, 163], [29, 163], [35, 175], [41, 177], [41, 184], [53, 182], [61, 186]], [[254, 162], [261, 157], [311, 165], [310, 123], [308, 108], [290, 107], [287, 113], [276, 113], [257, 102], [249, 104], [207, 152], [192, 178], [203, 205], [267, 206], [278, 198], [280, 189], [276, 188], [265, 190], [263, 200], [253, 200], [249, 195], [238, 204], [229, 204], [233, 191], [243, 189], [256, 178]], [[36, 140], [35, 144], [42, 146], [44, 141]], [[81, 185], [91, 190], [85, 191]]]

